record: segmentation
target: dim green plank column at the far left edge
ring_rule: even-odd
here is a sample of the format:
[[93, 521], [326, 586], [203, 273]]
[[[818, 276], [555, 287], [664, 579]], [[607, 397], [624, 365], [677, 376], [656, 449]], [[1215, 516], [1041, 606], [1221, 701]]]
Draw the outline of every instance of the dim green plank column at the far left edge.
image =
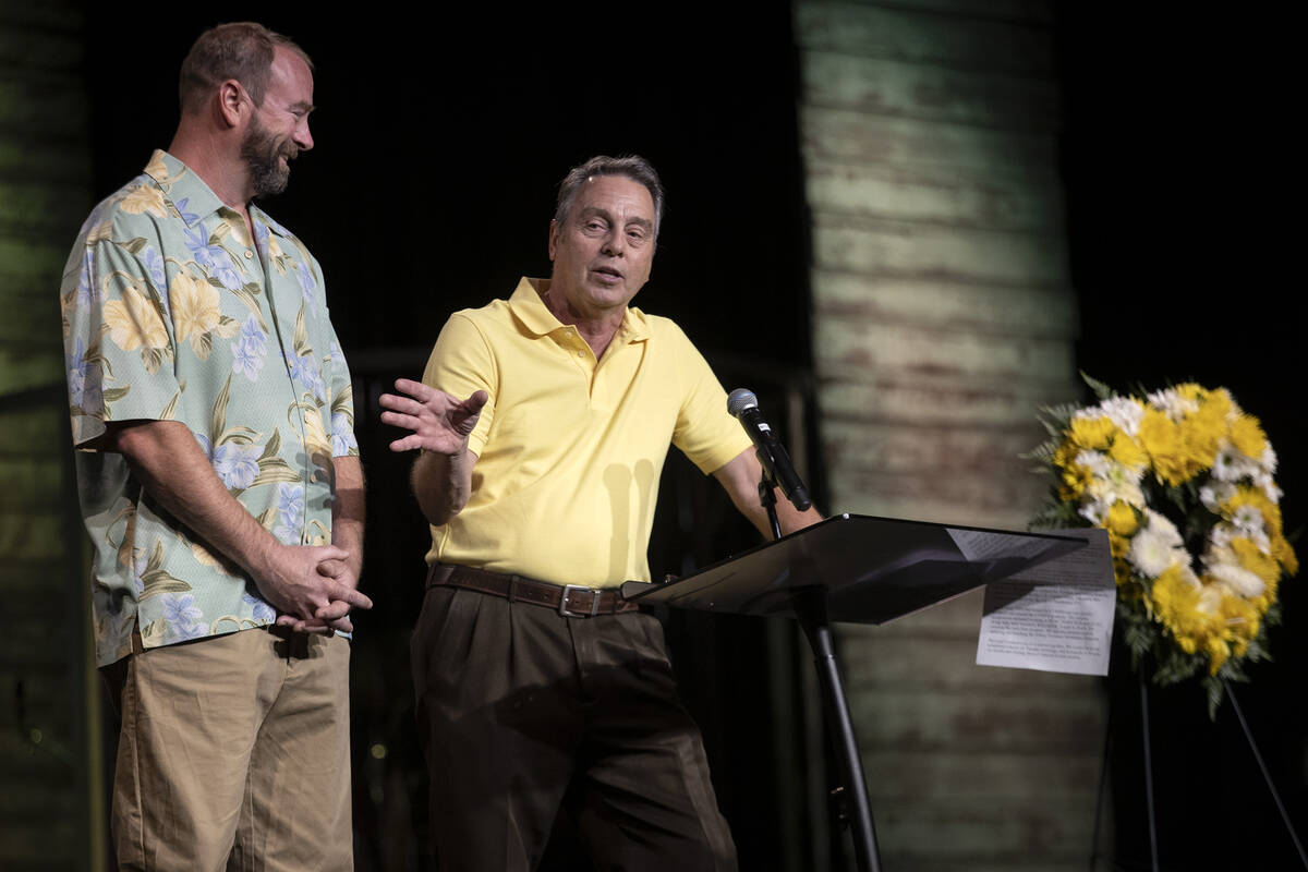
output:
[[0, 3], [0, 868], [103, 868], [59, 281], [90, 207], [81, 7]]

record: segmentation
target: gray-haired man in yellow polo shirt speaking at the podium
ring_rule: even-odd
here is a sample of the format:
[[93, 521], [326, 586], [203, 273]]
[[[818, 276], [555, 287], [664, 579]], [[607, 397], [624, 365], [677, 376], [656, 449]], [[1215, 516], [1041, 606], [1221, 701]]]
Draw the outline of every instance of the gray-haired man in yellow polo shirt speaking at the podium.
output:
[[[676, 324], [628, 306], [662, 210], [642, 158], [573, 169], [551, 278], [455, 312], [422, 383], [382, 396], [432, 524], [412, 660], [442, 869], [534, 868], [564, 803], [599, 868], [735, 868], [662, 628], [616, 590], [650, 578], [670, 444], [768, 529], [722, 386]], [[777, 509], [785, 532], [819, 519]]]

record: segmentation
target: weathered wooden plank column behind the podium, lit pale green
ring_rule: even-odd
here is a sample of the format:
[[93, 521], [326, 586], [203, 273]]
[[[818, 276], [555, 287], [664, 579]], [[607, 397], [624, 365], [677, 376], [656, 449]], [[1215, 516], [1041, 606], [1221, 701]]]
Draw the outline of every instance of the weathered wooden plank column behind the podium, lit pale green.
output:
[[[1022, 529], [1076, 394], [1050, 4], [799, 0], [833, 511]], [[980, 595], [842, 626], [887, 869], [1084, 869], [1096, 679], [973, 664]]]

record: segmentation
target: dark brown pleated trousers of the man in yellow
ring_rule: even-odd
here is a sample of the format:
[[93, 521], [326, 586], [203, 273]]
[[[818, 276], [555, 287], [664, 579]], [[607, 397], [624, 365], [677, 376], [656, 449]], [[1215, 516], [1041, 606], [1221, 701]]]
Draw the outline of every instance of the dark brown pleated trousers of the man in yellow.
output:
[[598, 869], [735, 869], [663, 628], [432, 587], [413, 633], [442, 872], [527, 872], [560, 808]]

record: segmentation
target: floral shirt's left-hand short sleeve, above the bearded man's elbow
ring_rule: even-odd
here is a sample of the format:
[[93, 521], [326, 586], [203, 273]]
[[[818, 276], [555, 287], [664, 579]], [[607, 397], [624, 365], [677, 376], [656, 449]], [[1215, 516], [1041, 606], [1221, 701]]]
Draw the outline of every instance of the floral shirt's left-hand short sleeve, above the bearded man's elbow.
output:
[[64, 275], [61, 301], [73, 444], [109, 421], [169, 420], [181, 387], [166, 267], [157, 244], [99, 238]]

